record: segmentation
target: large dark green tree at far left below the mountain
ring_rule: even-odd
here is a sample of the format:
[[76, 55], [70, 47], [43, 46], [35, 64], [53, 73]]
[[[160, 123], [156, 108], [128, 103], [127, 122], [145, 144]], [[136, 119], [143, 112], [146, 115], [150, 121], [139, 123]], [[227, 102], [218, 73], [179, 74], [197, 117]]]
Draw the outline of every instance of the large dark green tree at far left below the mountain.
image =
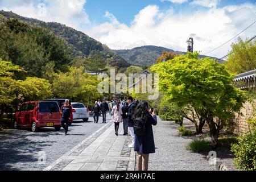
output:
[[17, 19], [0, 24], [0, 55], [27, 71], [22, 79], [42, 77], [42, 67], [49, 62], [55, 63], [55, 72], [65, 72], [71, 62], [63, 39], [46, 28], [33, 27]]

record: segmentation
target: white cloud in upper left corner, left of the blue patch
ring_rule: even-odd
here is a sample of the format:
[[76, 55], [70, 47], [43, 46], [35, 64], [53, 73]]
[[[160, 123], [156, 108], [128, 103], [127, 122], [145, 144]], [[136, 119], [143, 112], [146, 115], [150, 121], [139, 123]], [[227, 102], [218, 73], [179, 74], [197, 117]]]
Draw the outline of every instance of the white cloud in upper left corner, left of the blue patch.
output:
[[[36, 18], [46, 22], [59, 22], [73, 28], [79, 28], [82, 24], [90, 23], [89, 17], [84, 11], [86, 0], [2, 0], [0, 9], [13, 11], [22, 16]], [[43, 5], [43, 6], [41, 6]]]

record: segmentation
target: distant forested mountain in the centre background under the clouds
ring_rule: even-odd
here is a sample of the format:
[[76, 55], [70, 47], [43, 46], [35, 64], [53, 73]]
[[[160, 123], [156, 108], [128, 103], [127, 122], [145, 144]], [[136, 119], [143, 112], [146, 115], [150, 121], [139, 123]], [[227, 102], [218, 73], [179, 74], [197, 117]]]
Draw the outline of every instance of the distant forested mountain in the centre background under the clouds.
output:
[[[136, 47], [133, 49], [124, 49], [124, 50], [113, 50], [123, 59], [129, 61], [130, 64], [133, 65], [152, 65], [155, 63], [156, 59], [162, 55], [163, 51], [174, 52], [178, 55], [184, 54], [186, 52], [174, 51], [172, 49], [158, 47], [158, 46], [142, 46]], [[207, 57], [200, 55], [199, 57]], [[215, 57], [212, 57], [216, 59]], [[217, 59], [220, 63], [223, 63], [223, 60]]]

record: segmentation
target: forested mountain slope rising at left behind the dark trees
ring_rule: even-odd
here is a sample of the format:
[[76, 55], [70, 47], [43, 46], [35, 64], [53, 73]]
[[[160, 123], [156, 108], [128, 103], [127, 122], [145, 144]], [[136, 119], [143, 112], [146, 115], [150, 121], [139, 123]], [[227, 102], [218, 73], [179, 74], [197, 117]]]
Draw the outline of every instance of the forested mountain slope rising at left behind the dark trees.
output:
[[[121, 56], [116, 55], [111, 49], [102, 45], [97, 40], [90, 38], [88, 35], [81, 31], [77, 31], [71, 27], [67, 27], [60, 23], [46, 23], [38, 19], [26, 18], [17, 15], [13, 12], [0, 11], [0, 19], [3, 16], [7, 19], [15, 18], [22, 20], [23, 22], [32, 24], [33, 26], [39, 26], [43, 28], [49, 28], [64, 39], [65, 44], [69, 48], [71, 56], [85, 58], [94, 55], [101, 55], [103, 59], [107, 60], [108, 64], [113, 67], [127, 68], [130, 66], [129, 63]], [[0, 20], [1, 21], [1, 20]]]

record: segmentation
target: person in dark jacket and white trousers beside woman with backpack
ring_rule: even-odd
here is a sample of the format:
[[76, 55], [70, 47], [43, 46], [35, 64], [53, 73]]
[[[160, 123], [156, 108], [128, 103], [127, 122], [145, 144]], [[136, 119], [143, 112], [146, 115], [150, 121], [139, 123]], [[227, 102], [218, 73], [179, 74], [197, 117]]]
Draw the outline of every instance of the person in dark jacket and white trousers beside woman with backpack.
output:
[[135, 103], [133, 102], [133, 97], [127, 97], [127, 102], [128, 102], [128, 106], [129, 106], [129, 110], [128, 113], [126, 113], [127, 115], [127, 125], [131, 134], [131, 137], [133, 138], [133, 141], [131, 144], [129, 144], [130, 148], [134, 147], [134, 130], [133, 130], [133, 114], [136, 108]]

